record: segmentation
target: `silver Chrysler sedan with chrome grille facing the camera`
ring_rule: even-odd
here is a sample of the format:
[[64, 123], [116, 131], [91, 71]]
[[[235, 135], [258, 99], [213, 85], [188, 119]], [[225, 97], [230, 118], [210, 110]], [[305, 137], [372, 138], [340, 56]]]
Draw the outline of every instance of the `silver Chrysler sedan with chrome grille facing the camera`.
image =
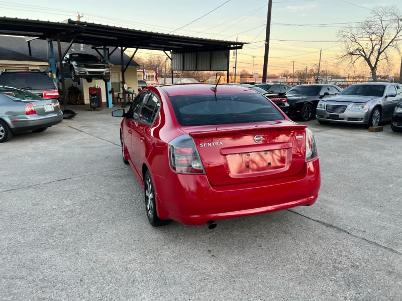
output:
[[402, 85], [373, 82], [353, 84], [338, 95], [323, 98], [317, 105], [316, 118], [330, 122], [377, 126], [391, 120], [396, 104], [402, 101]]

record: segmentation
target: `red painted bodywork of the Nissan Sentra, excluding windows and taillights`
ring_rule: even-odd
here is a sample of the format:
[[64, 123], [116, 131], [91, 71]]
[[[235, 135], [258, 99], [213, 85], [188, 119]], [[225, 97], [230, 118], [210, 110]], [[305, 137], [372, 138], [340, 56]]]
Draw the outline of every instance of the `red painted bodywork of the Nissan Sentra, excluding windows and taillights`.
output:
[[[207, 87], [205, 87], [207, 86]], [[151, 125], [123, 118], [124, 157], [140, 184], [150, 171], [160, 219], [188, 225], [313, 205], [321, 185], [319, 159], [306, 162], [306, 125], [283, 120], [182, 126], [169, 96], [212, 93], [211, 85], [147, 87], [161, 100]], [[235, 93], [218, 86], [218, 93]], [[141, 94], [140, 93], [140, 94]], [[237, 92], [236, 92], [237, 93]], [[252, 90], [241, 93], [257, 93]], [[137, 96], [138, 97], [138, 96]], [[168, 143], [188, 134], [205, 173], [181, 174], [169, 164]], [[264, 143], [254, 141], [261, 135]]]

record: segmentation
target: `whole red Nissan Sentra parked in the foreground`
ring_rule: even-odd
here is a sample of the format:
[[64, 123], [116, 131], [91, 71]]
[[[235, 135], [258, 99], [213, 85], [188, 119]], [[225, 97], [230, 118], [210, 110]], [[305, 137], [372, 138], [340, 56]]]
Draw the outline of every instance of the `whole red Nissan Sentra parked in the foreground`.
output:
[[143, 89], [120, 125], [123, 161], [144, 188], [152, 226], [313, 205], [320, 164], [313, 133], [241, 86]]

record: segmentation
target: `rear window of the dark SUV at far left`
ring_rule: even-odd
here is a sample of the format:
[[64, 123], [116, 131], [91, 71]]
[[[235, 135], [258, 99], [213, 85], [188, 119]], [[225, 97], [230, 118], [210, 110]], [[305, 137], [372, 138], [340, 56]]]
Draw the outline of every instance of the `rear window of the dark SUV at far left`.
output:
[[26, 90], [54, 90], [53, 81], [46, 73], [5, 72], [0, 74], [0, 86]]

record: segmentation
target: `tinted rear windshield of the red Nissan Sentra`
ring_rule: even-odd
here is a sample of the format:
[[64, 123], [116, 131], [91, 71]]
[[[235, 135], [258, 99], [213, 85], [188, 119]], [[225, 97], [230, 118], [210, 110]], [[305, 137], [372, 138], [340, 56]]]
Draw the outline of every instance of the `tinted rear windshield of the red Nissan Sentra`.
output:
[[185, 126], [283, 120], [283, 115], [261, 94], [171, 96], [178, 123]]

